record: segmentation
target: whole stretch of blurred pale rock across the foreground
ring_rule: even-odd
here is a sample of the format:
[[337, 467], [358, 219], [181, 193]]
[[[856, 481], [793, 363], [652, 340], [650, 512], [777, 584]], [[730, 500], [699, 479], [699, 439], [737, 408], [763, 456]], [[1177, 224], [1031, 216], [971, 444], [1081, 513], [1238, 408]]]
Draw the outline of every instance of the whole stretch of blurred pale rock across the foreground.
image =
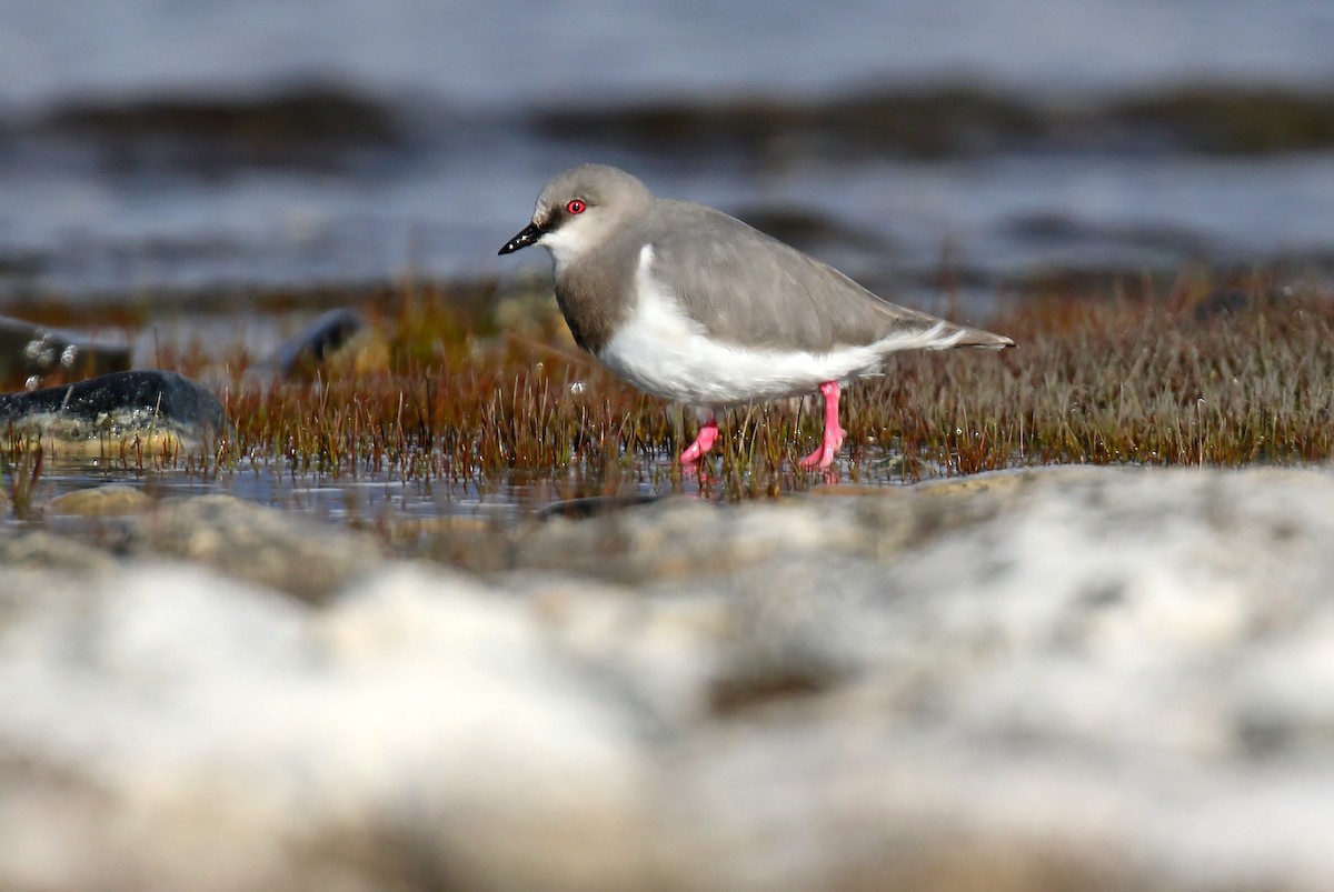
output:
[[[674, 499], [487, 576], [200, 501], [8, 533], [0, 888], [1334, 888], [1326, 472]], [[358, 557], [301, 601], [223, 516]]]

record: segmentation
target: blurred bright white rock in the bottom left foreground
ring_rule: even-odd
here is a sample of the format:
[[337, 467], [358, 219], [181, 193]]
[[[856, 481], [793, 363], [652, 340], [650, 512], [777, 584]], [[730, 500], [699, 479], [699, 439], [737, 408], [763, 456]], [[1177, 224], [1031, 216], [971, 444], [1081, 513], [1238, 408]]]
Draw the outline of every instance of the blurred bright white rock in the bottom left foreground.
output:
[[[7, 601], [0, 749], [104, 796], [112, 841], [55, 821], [59, 799], [36, 809], [43, 837], [31, 800], [0, 796], [0, 836], [36, 837], [0, 847], [0, 877], [279, 888], [347, 836], [354, 856], [419, 845], [459, 880], [579, 888], [630, 856], [628, 713], [522, 603], [459, 576], [399, 569], [323, 612], [183, 567]], [[103, 859], [69, 857], [80, 845]], [[334, 875], [374, 887], [366, 868]]]

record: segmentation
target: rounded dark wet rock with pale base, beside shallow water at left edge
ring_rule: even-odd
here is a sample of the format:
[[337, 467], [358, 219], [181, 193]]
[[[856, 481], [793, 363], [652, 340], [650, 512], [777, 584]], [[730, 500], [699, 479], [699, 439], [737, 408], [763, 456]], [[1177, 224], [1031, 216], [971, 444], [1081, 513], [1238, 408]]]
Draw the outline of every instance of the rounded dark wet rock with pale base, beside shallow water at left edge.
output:
[[148, 432], [195, 441], [223, 431], [227, 417], [200, 384], [175, 372], [136, 371], [0, 395], [0, 424], [28, 423], [64, 441]]

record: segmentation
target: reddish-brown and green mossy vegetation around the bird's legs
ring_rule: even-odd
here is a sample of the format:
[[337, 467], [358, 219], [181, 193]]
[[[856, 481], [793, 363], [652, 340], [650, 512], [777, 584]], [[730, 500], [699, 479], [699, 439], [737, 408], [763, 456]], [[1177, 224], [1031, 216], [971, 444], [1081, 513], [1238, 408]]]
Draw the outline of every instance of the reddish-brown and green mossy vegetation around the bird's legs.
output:
[[[688, 480], [734, 499], [827, 479], [796, 468], [819, 435], [815, 400], [728, 412], [720, 448], [698, 475], [682, 469], [674, 459], [694, 435], [692, 413], [602, 371], [540, 289], [403, 287], [371, 312], [374, 336], [299, 380], [255, 375], [257, 357], [232, 348], [219, 385], [232, 436], [209, 455], [172, 460], [208, 473], [259, 464], [479, 487]], [[1301, 464], [1334, 451], [1327, 293], [1259, 281], [1221, 291], [1199, 277], [1166, 293], [1030, 295], [971, 321], [1019, 348], [903, 355], [884, 377], [848, 388], [839, 479], [912, 483], [1063, 463]], [[208, 376], [199, 352], [160, 359]], [[7, 445], [12, 463], [23, 441]]]

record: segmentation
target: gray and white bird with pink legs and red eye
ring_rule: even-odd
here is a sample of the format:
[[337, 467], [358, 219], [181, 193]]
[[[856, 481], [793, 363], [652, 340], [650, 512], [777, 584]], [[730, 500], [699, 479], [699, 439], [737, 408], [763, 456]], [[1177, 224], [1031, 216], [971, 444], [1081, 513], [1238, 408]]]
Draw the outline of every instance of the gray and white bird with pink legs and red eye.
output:
[[878, 375], [903, 349], [1014, 341], [891, 304], [800, 251], [714, 208], [655, 199], [614, 167], [586, 164], [543, 187], [532, 221], [502, 255], [540, 244], [575, 341], [654, 396], [696, 408], [718, 439], [728, 405], [824, 397], [824, 439], [802, 467], [827, 468], [843, 445], [839, 384]]

